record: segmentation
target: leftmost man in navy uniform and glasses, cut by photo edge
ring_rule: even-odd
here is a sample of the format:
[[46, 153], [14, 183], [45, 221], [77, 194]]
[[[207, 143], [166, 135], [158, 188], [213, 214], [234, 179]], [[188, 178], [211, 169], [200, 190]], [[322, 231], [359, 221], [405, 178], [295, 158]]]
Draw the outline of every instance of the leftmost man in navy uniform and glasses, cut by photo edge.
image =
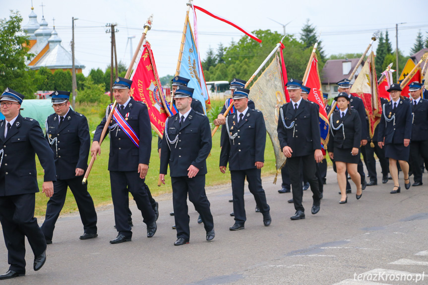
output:
[[34, 218], [37, 185], [36, 160], [45, 171], [43, 192], [54, 193], [54, 154], [39, 122], [19, 114], [24, 96], [6, 88], [0, 97], [0, 222], [7, 248], [9, 270], [0, 275], [10, 279], [25, 275], [25, 236], [34, 253], [33, 269], [46, 261], [46, 240]]

